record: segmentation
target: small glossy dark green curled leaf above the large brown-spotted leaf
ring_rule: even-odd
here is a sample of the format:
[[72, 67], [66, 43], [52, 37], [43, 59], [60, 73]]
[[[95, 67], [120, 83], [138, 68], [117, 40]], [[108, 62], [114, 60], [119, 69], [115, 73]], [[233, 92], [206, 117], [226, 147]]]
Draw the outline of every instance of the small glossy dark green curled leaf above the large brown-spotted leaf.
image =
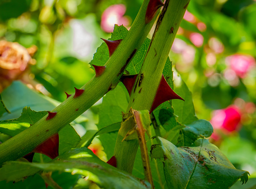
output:
[[210, 137], [212, 133], [213, 126], [211, 126], [209, 121], [194, 121], [182, 128], [178, 139], [179, 143], [176, 146], [192, 146], [197, 139]]

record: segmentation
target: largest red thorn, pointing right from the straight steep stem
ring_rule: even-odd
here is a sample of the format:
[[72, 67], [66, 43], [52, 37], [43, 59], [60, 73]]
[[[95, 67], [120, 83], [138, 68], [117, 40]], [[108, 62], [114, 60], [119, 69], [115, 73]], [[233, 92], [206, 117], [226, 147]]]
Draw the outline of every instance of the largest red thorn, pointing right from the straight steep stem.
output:
[[169, 101], [172, 99], [180, 99], [180, 100], [184, 101], [182, 97], [180, 97], [178, 94], [176, 94], [172, 90], [172, 88], [168, 85], [164, 76], [162, 75], [160, 85], [157, 89], [155, 99], [154, 99], [154, 102], [152, 104], [152, 107], [151, 107], [151, 110], [149, 113], [153, 112], [153, 110], [155, 110], [156, 107], [159, 106], [160, 104], [162, 104], [163, 102]]

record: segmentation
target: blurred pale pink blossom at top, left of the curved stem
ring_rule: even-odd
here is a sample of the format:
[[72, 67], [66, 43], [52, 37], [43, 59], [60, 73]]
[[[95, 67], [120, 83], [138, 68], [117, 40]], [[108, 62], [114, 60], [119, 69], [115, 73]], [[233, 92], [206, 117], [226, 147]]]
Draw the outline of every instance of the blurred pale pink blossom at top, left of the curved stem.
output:
[[130, 21], [123, 16], [126, 12], [126, 6], [123, 4], [109, 6], [101, 15], [101, 28], [105, 32], [112, 32], [114, 24], [128, 26]]

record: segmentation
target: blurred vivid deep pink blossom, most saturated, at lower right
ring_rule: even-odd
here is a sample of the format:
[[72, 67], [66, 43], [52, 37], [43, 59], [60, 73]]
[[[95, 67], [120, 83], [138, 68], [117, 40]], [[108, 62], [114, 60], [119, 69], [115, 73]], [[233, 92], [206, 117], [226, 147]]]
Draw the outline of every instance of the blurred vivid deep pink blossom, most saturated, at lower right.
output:
[[230, 105], [226, 109], [215, 110], [210, 123], [213, 125], [214, 134], [211, 138], [218, 140], [218, 130], [222, 130], [224, 134], [231, 133], [232, 131], [238, 131], [240, 129], [242, 113], [240, 109], [235, 105]]

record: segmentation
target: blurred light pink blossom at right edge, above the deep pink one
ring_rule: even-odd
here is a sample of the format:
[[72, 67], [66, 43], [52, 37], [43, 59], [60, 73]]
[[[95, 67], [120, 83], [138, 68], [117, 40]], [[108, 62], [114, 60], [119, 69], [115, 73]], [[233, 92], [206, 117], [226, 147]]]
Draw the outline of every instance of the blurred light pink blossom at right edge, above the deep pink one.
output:
[[235, 54], [226, 58], [226, 64], [235, 71], [237, 76], [244, 78], [255, 66], [255, 59], [250, 55]]

